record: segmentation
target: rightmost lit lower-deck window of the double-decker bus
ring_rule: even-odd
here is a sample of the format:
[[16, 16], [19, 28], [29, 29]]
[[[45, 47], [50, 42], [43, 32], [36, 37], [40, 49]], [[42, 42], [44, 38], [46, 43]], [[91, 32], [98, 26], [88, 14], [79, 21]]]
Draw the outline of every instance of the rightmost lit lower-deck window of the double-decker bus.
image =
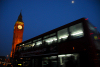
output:
[[80, 67], [79, 54], [63, 54], [58, 55], [58, 66], [59, 67]]

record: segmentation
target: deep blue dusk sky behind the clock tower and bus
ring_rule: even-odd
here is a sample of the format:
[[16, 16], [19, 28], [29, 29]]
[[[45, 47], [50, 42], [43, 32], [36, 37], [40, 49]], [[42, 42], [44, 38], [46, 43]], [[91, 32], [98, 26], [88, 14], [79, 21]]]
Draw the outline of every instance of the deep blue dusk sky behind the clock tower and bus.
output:
[[100, 31], [100, 0], [0, 0], [0, 55], [10, 54], [14, 24], [22, 9], [23, 41], [80, 19]]

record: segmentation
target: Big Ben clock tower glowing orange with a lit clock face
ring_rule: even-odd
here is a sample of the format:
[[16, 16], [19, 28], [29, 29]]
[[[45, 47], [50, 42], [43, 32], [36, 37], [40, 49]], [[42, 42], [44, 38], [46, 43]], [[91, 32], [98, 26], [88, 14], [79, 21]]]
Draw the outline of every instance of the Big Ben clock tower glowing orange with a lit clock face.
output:
[[10, 57], [12, 57], [12, 55], [15, 53], [16, 45], [22, 42], [23, 30], [24, 30], [24, 22], [22, 21], [22, 14], [20, 12], [20, 15], [14, 25], [13, 43], [12, 43], [12, 50]]

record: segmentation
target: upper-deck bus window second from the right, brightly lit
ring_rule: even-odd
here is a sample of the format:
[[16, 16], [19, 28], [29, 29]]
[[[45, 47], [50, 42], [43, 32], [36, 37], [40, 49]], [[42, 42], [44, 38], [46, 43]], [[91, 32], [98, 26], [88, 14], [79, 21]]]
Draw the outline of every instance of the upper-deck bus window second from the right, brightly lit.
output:
[[58, 42], [60, 42], [61, 40], [66, 40], [68, 38], [69, 34], [68, 34], [68, 29], [62, 29], [58, 31]]

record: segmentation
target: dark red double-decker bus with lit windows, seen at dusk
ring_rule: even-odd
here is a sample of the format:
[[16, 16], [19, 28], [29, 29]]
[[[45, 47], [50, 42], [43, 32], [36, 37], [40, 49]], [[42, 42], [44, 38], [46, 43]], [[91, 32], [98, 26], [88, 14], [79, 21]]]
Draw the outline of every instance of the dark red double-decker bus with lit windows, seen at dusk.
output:
[[99, 33], [81, 18], [17, 44], [14, 59], [26, 67], [100, 67]]

